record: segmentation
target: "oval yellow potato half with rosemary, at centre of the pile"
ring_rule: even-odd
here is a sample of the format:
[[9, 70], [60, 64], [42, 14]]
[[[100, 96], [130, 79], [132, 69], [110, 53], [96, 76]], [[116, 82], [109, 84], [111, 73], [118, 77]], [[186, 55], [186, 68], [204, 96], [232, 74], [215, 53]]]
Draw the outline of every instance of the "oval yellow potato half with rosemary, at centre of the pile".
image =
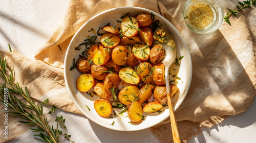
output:
[[130, 84], [138, 84], [140, 82], [140, 77], [130, 67], [122, 68], [119, 71], [119, 77], [126, 83], [130, 83]]

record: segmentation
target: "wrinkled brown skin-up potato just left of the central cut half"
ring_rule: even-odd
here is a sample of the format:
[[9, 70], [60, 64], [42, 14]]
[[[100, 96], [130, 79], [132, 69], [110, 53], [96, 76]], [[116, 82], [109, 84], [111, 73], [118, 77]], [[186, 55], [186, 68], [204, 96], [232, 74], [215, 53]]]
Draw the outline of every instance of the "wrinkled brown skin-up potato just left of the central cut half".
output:
[[117, 88], [120, 83], [120, 78], [117, 74], [109, 74], [104, 80], [104, 89], [111, 94], [111, 89]]

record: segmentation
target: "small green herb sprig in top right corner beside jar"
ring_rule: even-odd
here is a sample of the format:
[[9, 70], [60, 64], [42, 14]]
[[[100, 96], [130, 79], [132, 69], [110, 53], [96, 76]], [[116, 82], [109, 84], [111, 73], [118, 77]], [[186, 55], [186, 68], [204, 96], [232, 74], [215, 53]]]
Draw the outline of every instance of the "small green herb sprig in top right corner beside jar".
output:
[[238, 2], [239, 5], [237, 5], [237, 10], [236, 11], [232, 11], [230, 9], [228, 9], [231, 13], [227, 13], [227, 15], [224, 17], [224, 20], [231, 26], [230, 21], [228, 20], [228, 17], [230, 15], [234, 15], [235, 17], [237, 17], [237, 14], [239, 11], [245, 9], [245, 8], [251, 8], [250, 6], [256, 6], [256, 0], [249, 0], [249, 1], [244, 1], [244, 2]]

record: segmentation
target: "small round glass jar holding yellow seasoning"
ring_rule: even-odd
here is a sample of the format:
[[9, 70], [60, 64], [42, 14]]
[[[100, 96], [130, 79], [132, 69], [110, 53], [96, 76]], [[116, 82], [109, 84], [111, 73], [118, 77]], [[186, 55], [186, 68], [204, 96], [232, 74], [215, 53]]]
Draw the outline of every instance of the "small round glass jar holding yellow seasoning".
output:
[[198, 34], [210, 34], [219, 29], [224, 10], [217, 0], [188, 0], [183, 9], [187, 27]]

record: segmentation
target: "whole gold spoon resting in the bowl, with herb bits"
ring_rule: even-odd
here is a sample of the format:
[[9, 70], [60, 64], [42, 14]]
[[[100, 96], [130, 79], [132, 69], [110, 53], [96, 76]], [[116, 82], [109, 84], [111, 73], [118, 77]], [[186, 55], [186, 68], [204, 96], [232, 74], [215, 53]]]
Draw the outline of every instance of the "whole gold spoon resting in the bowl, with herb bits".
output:
[[173, 64], [176, 58], [176, 46], [175, 41], [170, 34], [169, 30], [164, 27], [159, 27], [154, 32], [154, 44], [158, 43], [161, 44], [164, 47], [164, 57], [162, 58], [162, 63], [165, 67], [165, 85], [166, 85], [166, 92], [167, 92], [167, 100], [168, 100], [168, 107], [170, 112], [170, 125], [172, 126], [172, 132], [173, 132], [173, 139], [174, 143], [181, 142], [178, 126], [175, 119], [174, 114], [174, 107], [172, 98], [170, 98], [170, 85], [169, 85], [169, 67]]

